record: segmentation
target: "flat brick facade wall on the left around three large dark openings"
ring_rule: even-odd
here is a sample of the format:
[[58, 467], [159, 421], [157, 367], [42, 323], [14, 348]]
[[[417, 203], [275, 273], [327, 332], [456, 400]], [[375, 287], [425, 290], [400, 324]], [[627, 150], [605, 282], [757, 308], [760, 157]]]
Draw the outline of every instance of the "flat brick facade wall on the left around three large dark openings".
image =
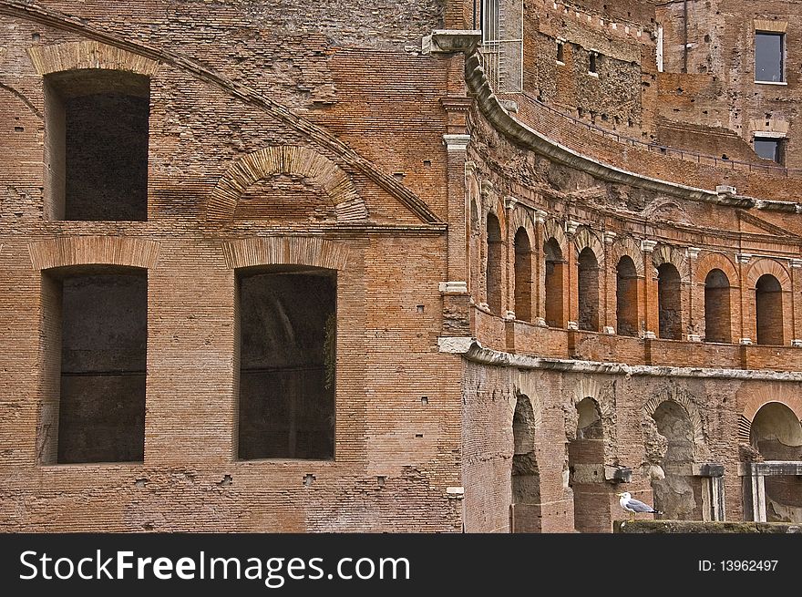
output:
[[[461, 530], [459, 365], [436, 349], [447, 77], [419, 54], [441, 5], [44, 4], [0, 15], [4, 528]], [[42, 72], [70, 60], [147, 71], [147, 221], [53, 217]], [[53, 466], [43, 273], [92, 262], [148, 273], [144, 456]], [[236, 271], [293, 263], [337, 271], [334, 460], [239, 460]]]

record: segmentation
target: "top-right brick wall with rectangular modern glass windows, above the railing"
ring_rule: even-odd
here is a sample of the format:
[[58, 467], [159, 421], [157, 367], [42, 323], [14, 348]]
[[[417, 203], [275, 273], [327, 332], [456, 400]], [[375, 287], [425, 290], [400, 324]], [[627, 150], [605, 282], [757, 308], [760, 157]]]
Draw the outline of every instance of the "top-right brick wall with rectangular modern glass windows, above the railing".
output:
[[[740, 0], [689, 2], [686, 16], [684, 3], [667, 3], [657, 7], [657, 20], [664, 28], [664, 77], [678, 83], [676, 87], [661, 83], [666, 93], [660, 116], [675, 128], [682, 128], [678, 123], [684, 122], [714, 131], [729, 129], [750, 147], [756, 132], [780, 134], [786, 144], [785, 165], [798, 168], [802, 161], [796, 150], [794, 121], [802, 96], [797, 90], [793, 56], [802, 43], [802, 31], [797, 5], [779, 0], [759, 5]], [[756, 31], [785, 34], [785, 79], [781, 84], [756, 80]], [[661, 134], [661, 142], [679, 145], [682, 140]], [[709, 143], [703, 139], [697, 150], [710, 152]], [[694, 143], [679, 146], [691, 149]], [[760, 161], [744, 150], [737, 155], [735, 159]]]

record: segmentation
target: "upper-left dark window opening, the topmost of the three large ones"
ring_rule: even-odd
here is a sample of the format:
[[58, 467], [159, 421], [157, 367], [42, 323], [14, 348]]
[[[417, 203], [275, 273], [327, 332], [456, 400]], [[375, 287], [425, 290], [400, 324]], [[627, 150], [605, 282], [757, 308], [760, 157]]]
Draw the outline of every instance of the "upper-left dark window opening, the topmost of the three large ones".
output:
[[149, 96], [149, 78], [128, 72], [46, 76], [48, 219], [148, 219]]

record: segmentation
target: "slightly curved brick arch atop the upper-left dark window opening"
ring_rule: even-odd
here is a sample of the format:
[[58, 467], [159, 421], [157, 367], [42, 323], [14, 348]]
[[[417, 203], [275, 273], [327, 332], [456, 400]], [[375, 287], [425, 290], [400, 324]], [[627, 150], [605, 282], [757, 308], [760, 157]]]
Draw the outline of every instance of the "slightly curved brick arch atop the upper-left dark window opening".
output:
[[28, 56], [41, 76], [65, 70], [98, 68], [153, 77], [159, 70], [156, 60], [91, 40], [32, 46], [28, 48]]

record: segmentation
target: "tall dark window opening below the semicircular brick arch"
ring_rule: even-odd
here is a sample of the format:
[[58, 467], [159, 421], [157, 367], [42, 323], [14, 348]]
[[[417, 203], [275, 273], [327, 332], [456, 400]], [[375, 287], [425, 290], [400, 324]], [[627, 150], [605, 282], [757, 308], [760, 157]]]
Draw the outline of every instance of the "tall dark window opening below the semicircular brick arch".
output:
[[333, 459], [336, 274], [248, 268], [237, 283], [239, 458]]

